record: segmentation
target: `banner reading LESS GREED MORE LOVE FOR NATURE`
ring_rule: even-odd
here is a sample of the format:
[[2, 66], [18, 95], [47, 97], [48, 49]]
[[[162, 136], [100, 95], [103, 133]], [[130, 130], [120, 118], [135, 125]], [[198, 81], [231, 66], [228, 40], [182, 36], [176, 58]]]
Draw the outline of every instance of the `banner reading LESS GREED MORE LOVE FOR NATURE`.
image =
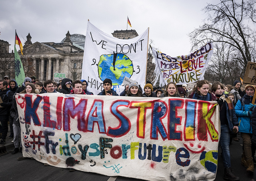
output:
[[156, 61], [156, 79], [160, 78], [160, 85], [169, 82], [181, 85], [204, 80], [204, 72], [211, 59], [213, 45], [212, 42], [208, 42], [186, 56], [172, 57], [154, 49], [152, 52]]

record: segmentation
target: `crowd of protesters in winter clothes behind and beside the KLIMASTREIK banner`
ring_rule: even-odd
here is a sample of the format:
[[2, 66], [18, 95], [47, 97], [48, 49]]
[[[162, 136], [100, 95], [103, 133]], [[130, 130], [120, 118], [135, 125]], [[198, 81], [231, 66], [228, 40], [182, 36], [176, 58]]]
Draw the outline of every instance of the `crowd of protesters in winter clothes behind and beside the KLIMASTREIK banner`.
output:
[[[221, 82], [210, 84], [207, 80], [200, 80], [193, 89], [189, 89], [186, 84], [176, 85], [169, 82], [165, 88], [154, 87], [150, 81], [142, 89], [137, 81], [132, 81], [125, 86], [120, 96], [134, 97], [181, 97], [198, 99], [203, 101], [217, 101], [220, 107], [220, 146], [224, 164], [224, 179], [240, 180], [234, 175], [230, 163], [230, 144], [232, 141], [239, 141], [239, 132], [243, 140], [241, 163], [246, 167], [246, 171], [254, 173], [254, 154], [256, 150], [256, 108], [252, 104], [255, 87], [246, 85], [244, 91], [242, 84], [238, 80], [232, 85], [223, 85]], [[20, 141], [20, 121], [18, 119], [17, 105], [15, 101], [16, 93], [64, 93], [93, 95], [87, 89], [86, 80], [74, 80], [64, 78], [59, 84], [52, 80], [40, 82], [36, 77], [26, 77], [23, 84], [18, 87], [15, 80], [10, 80], [5, 76], [0, 80], [0, 146], [5, 144], [8, 133], [8, 121], [10, 122], [10, 136], [15, 146], [12, 154], [22, 152]], [[103, 90], [98, 95], [119, 96], [112, 89], [112, 81], [103, 81]], [[22, 160], [24, 157], [19, 157]]]

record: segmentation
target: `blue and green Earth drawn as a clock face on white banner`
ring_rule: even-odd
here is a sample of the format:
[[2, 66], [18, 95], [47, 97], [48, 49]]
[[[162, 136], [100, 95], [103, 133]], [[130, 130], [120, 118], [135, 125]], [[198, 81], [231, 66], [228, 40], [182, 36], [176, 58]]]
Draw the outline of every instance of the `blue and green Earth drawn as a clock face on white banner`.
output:
[[112, 80], [113, 86], [121, 85], [124, 77], [130, 78], [133, 74], [132, 61], [124, 54], [108, 54], [100, 56], [98, 73], [102, 81]]

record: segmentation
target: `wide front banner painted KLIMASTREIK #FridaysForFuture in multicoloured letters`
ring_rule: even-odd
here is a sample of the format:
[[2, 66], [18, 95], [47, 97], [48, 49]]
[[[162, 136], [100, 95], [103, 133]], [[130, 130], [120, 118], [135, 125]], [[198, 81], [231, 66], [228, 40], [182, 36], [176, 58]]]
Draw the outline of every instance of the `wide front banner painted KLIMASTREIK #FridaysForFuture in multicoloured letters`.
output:
[[150, 181], [215, 179], [216, 102], [60, 93], [17, 94], [16, 102], [24, 157]]

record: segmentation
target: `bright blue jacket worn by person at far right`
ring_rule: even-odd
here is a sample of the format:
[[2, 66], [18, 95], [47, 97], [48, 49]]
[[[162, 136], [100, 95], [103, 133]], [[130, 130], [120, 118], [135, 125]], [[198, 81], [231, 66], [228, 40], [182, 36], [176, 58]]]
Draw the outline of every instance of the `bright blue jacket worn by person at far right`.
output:
[[249, 104], [252, 103], [253, 96], [249, 96], [247, 94], [244, 95], [244, 105], [242, 106], [242, 99], [238, 100], [236, 103], [236, 115], [238, 116], [238, 122], [239, 122], [239, 132], [242, 133], [252, 133], [252, 127], [251, 127], [251, 119], [250, 116], [244, 116], [243, 113], [245, 111], [250, 111]]

